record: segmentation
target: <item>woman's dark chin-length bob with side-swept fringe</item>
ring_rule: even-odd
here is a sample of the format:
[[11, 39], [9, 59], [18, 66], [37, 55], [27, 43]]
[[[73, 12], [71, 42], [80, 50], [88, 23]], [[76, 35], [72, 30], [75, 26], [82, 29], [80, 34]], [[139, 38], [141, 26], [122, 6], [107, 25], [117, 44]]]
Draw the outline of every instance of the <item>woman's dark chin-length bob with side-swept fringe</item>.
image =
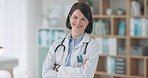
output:
[[89, 24], [86, 27], [85, 32], [88, 33], [88, 34], [91, 34], [92, 29], [93, 29], [92, 13], [91, 13], [91, 9], [90, 9], [89, 5], [87, 5], [84, 2], [73, 4], [73, 6], [71, 7], [71, 9], [70, 9], [70, 11], [68, 13], [67, 19], [66, 19], [66, 27], [69, 28], [69, 29], [72, 29], [72, 27], [69, 25], [70, 24], [69, 17], [77, 9], [79, 9], [83, 13], [83, 15], [88, 19]]

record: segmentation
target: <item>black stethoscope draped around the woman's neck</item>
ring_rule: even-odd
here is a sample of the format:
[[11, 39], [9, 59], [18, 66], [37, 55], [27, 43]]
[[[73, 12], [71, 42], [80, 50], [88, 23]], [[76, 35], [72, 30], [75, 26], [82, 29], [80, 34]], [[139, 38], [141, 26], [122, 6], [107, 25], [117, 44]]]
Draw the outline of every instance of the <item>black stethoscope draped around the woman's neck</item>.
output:
[[[55, 66], [56, 66], [56, 65], [59, 65], [59, 64], [61, 63], [61, 61], [63, 60], [64, 53], [65, 53], [65, 48], [66, 48], [65, 45], [63, 44], [64, 41], [65, 41], [65, 39], [66, 39], [66, 37], [62, 40], [61, 44], [59, 44], [59, 45], [56, 47], [56, 49], [55, 49], [55, 51], [54, 51], [54, 52], [56, 53], [56, 51], [58, 50], [59, 47], [63, 47], [62, 58], [61, 58], [61, 60], [60, 60], [58, 63], [55, 63], [55, 64], [54, 64]], [[87, 49], [88, 43], [89, 43], [89, 42], [86, 43], [85, 50], [84, 50], [84, 54], [86, 54], [86, 49]], [[55, 54], [55, 58], [56, 58], [56, 54]]]

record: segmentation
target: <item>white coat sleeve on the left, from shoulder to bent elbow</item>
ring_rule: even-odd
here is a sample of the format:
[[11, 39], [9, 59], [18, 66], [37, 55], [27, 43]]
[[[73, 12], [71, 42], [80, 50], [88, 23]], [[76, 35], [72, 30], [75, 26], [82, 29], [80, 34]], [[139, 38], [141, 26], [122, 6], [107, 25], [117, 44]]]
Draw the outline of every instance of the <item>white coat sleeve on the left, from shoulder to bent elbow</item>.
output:
[[43, 62], [42, 78], [57, 78], [57, 72], [53, 70], [55, 63], [54, 49], [56, 43], [49, 48], [48, 54]]

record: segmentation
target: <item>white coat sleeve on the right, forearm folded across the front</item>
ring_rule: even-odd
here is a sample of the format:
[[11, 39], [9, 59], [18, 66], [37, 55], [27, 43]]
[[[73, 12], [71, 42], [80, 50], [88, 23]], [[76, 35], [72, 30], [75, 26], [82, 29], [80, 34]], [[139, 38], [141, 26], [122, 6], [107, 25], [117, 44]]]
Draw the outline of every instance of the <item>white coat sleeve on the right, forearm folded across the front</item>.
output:
[[99, 59], [99, 43], [94, 41], [87, 47], [89, 60], [81, 67], [60, 66], [57, 78], [93, 78]]

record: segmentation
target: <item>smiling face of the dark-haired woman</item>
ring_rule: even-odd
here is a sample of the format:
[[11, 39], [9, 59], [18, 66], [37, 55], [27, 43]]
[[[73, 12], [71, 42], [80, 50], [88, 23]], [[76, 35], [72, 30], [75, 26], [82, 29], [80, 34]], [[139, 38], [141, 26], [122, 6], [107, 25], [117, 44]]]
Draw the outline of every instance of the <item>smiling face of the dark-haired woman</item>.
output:
[[79, 9], [77, 9], [70, 16], [70, 24], [72, 26], [72, 32], [84, 33], [85, 28], [89, 24], [89, 21], [83, 15], [83, 13]]

